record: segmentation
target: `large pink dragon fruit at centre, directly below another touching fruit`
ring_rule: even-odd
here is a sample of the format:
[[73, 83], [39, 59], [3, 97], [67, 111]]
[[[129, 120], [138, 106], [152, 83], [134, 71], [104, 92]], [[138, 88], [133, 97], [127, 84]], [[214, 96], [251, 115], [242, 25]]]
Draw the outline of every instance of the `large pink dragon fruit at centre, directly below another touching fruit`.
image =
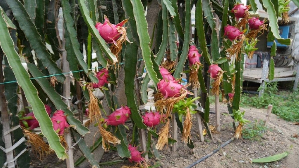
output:
[[167, 98], [179, 97], [180, 89], [183, 88], [183, 85], [179, 84], [179, 81], [162, 79], [157, 84], [157, 87], [158, 90], [164, 95], [164, 98]]

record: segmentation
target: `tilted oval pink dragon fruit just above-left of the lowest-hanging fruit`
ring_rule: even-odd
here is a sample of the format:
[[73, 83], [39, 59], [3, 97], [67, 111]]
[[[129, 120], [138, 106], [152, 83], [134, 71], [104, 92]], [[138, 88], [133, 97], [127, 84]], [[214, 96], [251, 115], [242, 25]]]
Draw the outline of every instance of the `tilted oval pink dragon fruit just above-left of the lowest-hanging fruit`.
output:
[[126, 120], [128, 120], [131, 114], [131, 110], [128, 106], [121, 106], [119, 109], [116, 109], [113, 113], [111, 113], [108, 118], [105, 119], [107, 125], [118, 126], [120, 124], [124, 124]]

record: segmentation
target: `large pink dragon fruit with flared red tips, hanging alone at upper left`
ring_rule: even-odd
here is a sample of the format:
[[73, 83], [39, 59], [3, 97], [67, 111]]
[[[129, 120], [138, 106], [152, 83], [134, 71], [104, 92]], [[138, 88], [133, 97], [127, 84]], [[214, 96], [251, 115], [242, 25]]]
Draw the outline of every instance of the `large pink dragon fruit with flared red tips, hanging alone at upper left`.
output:
[[110, 23], [109, 19], [107, 16], [104, 16], [104, 23], [98, 22], [95, 25], [95, 28], [100, 33], [100, 36], [107, 42], [107, 43], [116, 43], [115, 41], [120, 37], [120, 33], [118, 32], [118, 26], [122, 27], [127, 21], [123, 20], [122, 22], [118, 23], [117, 25], [114, 25]]

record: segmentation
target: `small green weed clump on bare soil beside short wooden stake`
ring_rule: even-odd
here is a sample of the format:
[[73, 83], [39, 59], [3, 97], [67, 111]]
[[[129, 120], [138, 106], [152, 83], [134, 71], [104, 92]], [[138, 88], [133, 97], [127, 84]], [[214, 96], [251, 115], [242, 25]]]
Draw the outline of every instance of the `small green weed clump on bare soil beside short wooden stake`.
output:
[[254, 120], [252, 123], [248, 123], [245, 125], [245, 128], [242, 130], [242, 137], [243, 139], [249, 140], [260, 140], [265, 131], [267, 130], [264, 127], [264, 122], [261, 120]]

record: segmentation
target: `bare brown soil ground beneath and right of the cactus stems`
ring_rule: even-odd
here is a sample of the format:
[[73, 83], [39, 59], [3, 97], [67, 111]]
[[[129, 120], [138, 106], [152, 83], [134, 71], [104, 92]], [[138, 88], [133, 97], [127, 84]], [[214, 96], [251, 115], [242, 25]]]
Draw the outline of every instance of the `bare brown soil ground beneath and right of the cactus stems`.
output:
[[[214, 105], [210, 105], [211, 111], [215, 111]], [[240, 108], [245, 110], [245, 118], [247, 120], [264, 120], [266, 118], [266, 109], [255, 109], [251, 107]], [[227, 107], [225, 104], [220, 105], [220, 112], [227, 113]], [[234, 135], [234, 129], [232, 126], [233, 120], [228, 115], [220, 115], [221, 118], [221, 131], [213, 133], [213, 140], [207, 135], [205, 141], [200, 142], [198, 133], [196, 131], [196, 118], [193, 118], [193, 128], [191, 131], [192, 140], [195, 148], [192, 150], [188, 148], [186, 144], [181, 142], [181, 134], [179, 132], [178, 150], [172, 152], [171, 146], [164, 148], [160, 152], [162, 158], [159, 161], [150, 159], [148, 162], [151, 165], [160, 164], [161, 168], [183, 168], [199, 160], [203, 156], [212, 152], [221, 144], [231, 139]], [[215, 114], [210, 114], [210, 125], [215, 125]], [[246, 125], [244, 126], [246, 127]], [[271, 114], [270, 120], [266, 127], [264, 135], [260, 140], [233, 140], [224, 148], [220, 149], [217, 153], [207, 158], [205, 161], [194, 166], [195, 168], [226, 168], [226, 167], [282, 167], [282, 168], [299, 168], [299, 139], [294, 138], [294, 135], [299, 134], [299, 126], [292, 122], [287, 122], [278, 118], [276, 115]], [[128, 139], [130, 135], [128, 135]], [[289, 155], [280, 161], [275, 161], [267, 164], [254, 164], [251, 160], [254, 158], [267, 157], [289, 151]], [[119, 160], [118, 154], [115, 151], [105, 152], [101, 162]], [[101, 166], [103, 168], [117, 168], [126, 166], [134, 166], [125, 160], [123, 163], [114, 164], [111, 166]], [[66, 167], [65, 161], [59, 161], [54, 155], [50, 155], [45, 158], [44, 161], [33, 159], [31, 167]]]

